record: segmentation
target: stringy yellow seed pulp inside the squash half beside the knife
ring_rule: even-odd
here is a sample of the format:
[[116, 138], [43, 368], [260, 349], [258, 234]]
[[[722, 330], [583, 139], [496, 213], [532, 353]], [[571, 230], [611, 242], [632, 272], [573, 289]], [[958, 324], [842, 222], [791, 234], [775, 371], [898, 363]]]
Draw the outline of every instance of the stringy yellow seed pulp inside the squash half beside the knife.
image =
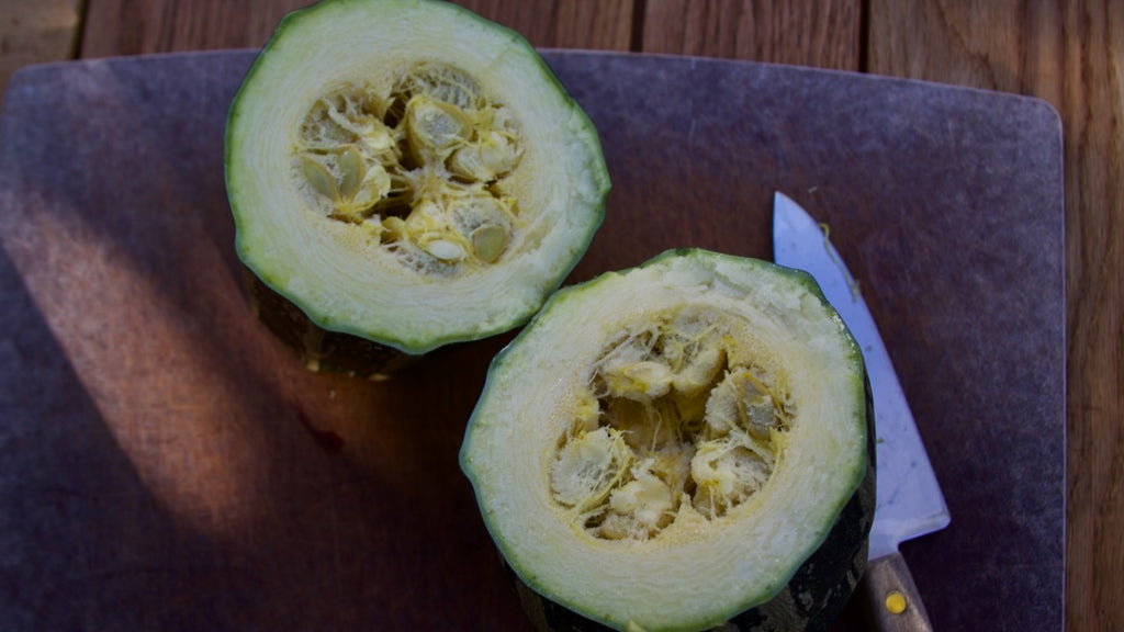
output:
[[622, 331], [559, 437], [554, 500], [602, 540], [650, 540], [683, 505], [709, 521], [769, 480], [792, 421], [783, 376], [731, 364], [733, 336], [683, 310]]

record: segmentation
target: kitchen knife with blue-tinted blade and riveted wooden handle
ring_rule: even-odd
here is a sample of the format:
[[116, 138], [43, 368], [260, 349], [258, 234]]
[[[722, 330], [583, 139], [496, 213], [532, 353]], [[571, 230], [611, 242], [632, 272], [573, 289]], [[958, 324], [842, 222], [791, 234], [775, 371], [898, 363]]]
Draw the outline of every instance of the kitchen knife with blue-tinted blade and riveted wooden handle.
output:
[[867, 304], [827, 233], [788, 196], [773, 199], [773, 256], [816, 279], [862, 349], [874, 401], [877, 504], [867, 575], [859, 585], [879, 630], [931, 631], [898, 545], [949, 525], [936, 475]]

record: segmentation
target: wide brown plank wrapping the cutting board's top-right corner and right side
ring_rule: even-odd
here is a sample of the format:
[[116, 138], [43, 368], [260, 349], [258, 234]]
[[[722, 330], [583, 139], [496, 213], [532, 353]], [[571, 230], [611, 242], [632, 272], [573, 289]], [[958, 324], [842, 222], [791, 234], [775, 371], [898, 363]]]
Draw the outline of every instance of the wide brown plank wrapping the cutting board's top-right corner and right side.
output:
[[872, 0], [869, 70], [1046, 99], [1064, 128], [1067, 629], [1124, 629], [1124, 3]]

